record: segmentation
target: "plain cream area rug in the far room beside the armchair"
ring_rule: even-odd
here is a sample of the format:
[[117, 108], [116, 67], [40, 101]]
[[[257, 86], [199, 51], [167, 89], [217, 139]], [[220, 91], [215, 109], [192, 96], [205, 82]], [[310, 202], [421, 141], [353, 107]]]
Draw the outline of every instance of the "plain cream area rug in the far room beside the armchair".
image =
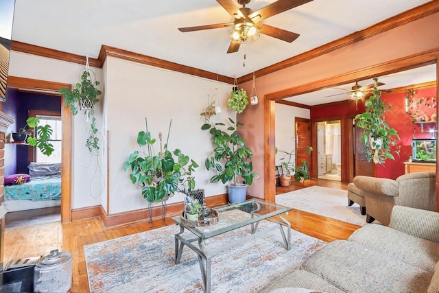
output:
[[366, 224], [366, 215], [361, 215], [358, 204], [348, 207], [346, 190], [311, 186], [279, 194], [276, 203], [359, 226]]

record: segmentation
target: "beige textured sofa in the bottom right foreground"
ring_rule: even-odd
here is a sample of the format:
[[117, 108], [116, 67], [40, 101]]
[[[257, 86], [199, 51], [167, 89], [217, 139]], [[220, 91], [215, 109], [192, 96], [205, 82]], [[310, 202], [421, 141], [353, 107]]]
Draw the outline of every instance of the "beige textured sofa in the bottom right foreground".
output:
[[323, 246], [261, 292], [313, 291], [438, 293], [439, 213], [395, 206], [389, 226]]

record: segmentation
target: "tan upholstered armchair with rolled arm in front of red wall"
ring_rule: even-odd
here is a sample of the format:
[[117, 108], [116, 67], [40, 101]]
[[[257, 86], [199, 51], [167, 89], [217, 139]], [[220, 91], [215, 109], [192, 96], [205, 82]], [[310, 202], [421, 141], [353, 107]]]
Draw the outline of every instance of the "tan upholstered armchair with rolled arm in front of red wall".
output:
[[404, 174], [396, 180], [355, 176], [353, 183], [363, 191], [368, 223], [376, 219], [388, 226], [394, 205], [436, 210], [436, 172]]

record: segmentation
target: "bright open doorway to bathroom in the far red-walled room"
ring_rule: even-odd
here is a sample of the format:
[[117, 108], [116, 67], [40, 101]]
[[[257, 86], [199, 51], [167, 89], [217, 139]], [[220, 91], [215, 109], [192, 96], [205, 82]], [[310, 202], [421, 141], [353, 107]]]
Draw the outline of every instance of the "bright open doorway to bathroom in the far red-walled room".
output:
[[317, 124], [318, 178], [341, 181], [342, 128], [340, 120]]

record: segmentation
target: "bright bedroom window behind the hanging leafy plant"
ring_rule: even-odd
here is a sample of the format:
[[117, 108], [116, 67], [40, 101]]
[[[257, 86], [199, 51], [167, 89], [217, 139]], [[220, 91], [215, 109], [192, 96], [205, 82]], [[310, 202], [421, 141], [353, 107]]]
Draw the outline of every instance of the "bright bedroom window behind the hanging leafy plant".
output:
[[40, 126], [49, 124], [54, 130], [51, 135], [50, 143], [54, 145], [54, 152], [50, 156], [42, 154], [40, 149], [36, 148], [36, 162], [61, 163], [61, 138], [62, 138], [62, 121], [59, 116], [36, 115], [40, 119]]

